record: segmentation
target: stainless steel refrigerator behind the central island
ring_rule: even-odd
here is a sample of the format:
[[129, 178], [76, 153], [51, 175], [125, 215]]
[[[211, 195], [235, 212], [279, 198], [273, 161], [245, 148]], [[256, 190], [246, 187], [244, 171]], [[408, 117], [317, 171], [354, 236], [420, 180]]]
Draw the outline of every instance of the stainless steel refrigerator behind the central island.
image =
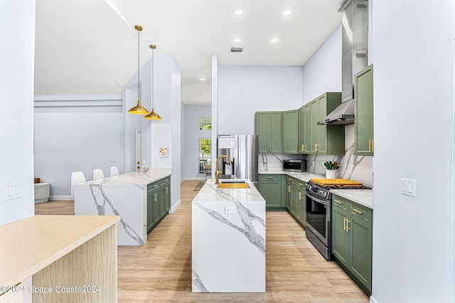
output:
[[[232, 165], [225, 158], [218, 163], [222, 172], [220, 179], [250, 179], [257, 187], [259, 176], [257, 171], [258, 141], [256, 135], [219, 135], [218, 153], [227, 155]], [[215, 165], [212, 165], [215, 169]]]

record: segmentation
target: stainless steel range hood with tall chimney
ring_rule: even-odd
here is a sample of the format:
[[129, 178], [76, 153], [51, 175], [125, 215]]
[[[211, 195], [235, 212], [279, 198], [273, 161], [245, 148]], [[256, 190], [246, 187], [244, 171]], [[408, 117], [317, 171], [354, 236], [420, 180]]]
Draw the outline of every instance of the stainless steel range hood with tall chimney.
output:
[[346, 0], [342, 12], [341, 105], [318, 124], [354, 123], [354, 75], [368, 65], [368, 0]]

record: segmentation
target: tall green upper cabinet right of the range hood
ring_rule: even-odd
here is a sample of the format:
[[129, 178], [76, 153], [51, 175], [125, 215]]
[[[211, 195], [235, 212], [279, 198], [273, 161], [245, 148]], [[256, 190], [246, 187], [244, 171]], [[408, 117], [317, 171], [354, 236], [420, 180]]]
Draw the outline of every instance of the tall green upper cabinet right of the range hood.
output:
[[373, 155], [373, 65], [354, 76], [355, 155]]

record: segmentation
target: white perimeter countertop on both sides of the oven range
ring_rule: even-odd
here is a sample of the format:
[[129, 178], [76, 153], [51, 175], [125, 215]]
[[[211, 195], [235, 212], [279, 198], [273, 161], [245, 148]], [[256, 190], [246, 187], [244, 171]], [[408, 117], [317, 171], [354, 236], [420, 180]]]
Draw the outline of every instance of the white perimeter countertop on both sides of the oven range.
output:
[[[289, 172], [286, 170], [259, 170], [259, 174], [284, 174], [304, 182], [309, 182], [310, 179], [326, 177], [324, 175], [316, 175], [312, 172]], [[331, 189], [331, 192], [373, 209], [373, 189]]]

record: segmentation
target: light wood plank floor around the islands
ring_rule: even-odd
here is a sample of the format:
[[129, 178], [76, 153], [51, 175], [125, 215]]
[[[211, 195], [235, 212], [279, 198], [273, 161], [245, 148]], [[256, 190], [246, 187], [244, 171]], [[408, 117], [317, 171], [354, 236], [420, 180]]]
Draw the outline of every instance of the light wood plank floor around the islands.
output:
[[[287, 212], [267, 212], [267, 292], [193, 294], [191, 200], [197, 184], [182, 182], [181, 206], [156, 226], [144, 246], [118, 247], [119, 302], [369, 302]], [[74, 205], [36, 204], [36, 214], [74, 214]]]

